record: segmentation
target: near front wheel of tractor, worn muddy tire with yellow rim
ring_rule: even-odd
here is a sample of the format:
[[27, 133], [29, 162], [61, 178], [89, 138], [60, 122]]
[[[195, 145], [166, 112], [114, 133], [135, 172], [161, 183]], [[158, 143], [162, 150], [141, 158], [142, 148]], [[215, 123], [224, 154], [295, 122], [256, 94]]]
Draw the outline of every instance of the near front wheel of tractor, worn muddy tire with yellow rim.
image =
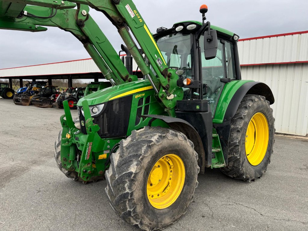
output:
[[132, 131], [120, 141], [105, 172], [111, 208], [144, 230], [173, 224], [193, 200], [197, 160], [193, 143], [181, 132], [157, 127]]

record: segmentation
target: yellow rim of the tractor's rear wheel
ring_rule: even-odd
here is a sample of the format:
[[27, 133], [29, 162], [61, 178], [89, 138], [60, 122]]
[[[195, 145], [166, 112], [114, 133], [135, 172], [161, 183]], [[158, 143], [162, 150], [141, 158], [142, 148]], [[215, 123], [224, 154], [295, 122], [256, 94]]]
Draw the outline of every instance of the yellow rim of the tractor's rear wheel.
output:
[[269, 126], [265, 115], [258, 112], [253, 115], [247, 126], [245, 151], [251, 165], [258, 165], [263, 160], [269, 142]]

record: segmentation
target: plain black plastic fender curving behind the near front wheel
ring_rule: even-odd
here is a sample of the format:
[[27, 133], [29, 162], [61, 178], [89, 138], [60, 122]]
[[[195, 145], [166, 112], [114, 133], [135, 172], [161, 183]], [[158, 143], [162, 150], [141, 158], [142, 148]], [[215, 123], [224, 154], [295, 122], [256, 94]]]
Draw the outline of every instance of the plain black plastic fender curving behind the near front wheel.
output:
[[195, 128], [189, 124], [187, 121], [174, 118], [170, 116], [164, 116], [164, 115], [143, 115], [142, 117], [146, 118], [152, 118], [149, 122], [149, 126], [151, 127], [151, 124], [154, 120], [159, 119], [163, 120], [170, 128], [182, 132], [189, 140], [191, 140], [194, 144], [195, 151], [198, 153], [198, 165], [200, 167], [200, 173], [204, 174], [205, 169], [205, 151], [203, 148], [202, 140], [198, 134], [198, 132], [195, 130]]

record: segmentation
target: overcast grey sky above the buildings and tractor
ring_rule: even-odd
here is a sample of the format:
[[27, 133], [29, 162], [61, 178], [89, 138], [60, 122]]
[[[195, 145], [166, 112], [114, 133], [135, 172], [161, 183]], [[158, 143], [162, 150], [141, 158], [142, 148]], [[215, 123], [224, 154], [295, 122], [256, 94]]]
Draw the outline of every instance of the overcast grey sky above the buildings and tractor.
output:
[[[152, 33], [179, 21], [198, 20], [207, 4], [207, 19], [216, 26], [249, 38], [308, 30], [307, 0], [134, 0]], [[117, 30], [95, 10], [91, 16], [116, 51], [122, 42]], [[48, 27], [45, 32], [0, 30], [0, 69], [89, 58], [82, 44], [68, 32]]]

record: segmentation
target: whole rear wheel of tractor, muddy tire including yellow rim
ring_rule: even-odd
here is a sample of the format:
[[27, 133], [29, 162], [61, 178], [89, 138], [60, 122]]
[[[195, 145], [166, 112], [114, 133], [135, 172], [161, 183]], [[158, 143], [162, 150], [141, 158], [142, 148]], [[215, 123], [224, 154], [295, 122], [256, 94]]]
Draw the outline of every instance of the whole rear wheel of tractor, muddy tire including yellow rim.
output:
[[[228, 166], [220, 168], [221, 172], [232, 178], [244, 181], [256, 180], [266, 172], [274, 145], [275, 128], [272, 111], [269, 101], [267, 101], [264, 96], [246, 95], [242, 99], [236, 114], [231, 120]], [[253, 119], [255, 131], [253, 130], [252, 134], [249, 134], [249, 130], [247, 132], [247, 129], [249, 126], [252, 126], [250, 122], [252, 118], [255, 118]], [[267, 123], [265, 123], [264, 119], [266, 119]], [[262, 123], [262, 121], [264, 121], [264, 123]], [[262, 133], [262, 129], [265, 129], [264, 133]], [[258, 136], [258, 134], [261, 133], [263, 135]], [[251, 136], [253, 136], [253, 144], [251, 144], [251, 148], [249, 148], [249, 142], [251, 143], [249, 139], [251, 139]], [[266, 140], [268, 140], [267, 146], [264, 144], [266, 141], [262, 140], [262, 138], [265, 139], [265, 137]], [[264, 146], [264, 148], [262, 146]], [[259, 149], [260, 152], [252, 151], [257, 150], [258, 147], [261, 148]], [[247, 153], [245, 148], [248, 150]]]

